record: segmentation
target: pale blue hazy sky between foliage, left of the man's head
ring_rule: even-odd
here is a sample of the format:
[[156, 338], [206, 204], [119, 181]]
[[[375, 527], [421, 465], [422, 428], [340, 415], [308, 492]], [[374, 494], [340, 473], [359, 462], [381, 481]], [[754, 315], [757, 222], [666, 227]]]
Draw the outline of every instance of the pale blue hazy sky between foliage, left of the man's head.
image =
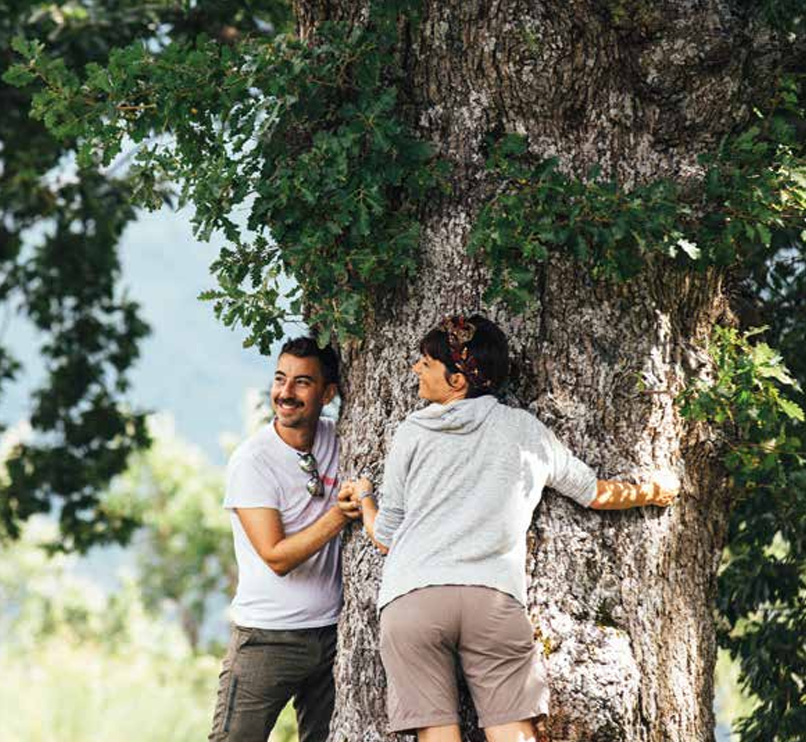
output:
[[[216, 285], [209, 265], [220, 239], [198, 242], [190, 213], [142, 212], [121, 242], [122, 287], [140, 302], [152, 334], [141, 343], [131, 374], [129, 402], [135, 408], [169, 413], [177, 433], [223, 464], [222, 434], [240, 437], [251, 417], [246, 400], [265, 391], [274, 357], [242, 347], [245, 333], [220, 323], [212, 302], [197, 299]], [[24, 318], [0, 318], [0, 342], [24, 364], [18, 382], [2, 397], [0, 419], [7, 425], [30, 412], [29, 395], [44, 375], [38, 338]], [[276, 350], [276, 348], [275, 348]]]

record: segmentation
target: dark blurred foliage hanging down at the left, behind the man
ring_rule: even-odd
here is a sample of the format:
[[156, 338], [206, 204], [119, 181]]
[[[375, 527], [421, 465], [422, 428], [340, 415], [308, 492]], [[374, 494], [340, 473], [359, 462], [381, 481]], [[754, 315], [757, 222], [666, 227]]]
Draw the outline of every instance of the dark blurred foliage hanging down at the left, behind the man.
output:
[[48, 336], [42, 352], [49, 377], [33, 396], [30, 422], [41, 435], [17, 441], [7, 454], [0, 529], [16, 535], [21, 521], [48, 512], [60, 496], [69, 534], [62, 546], [85, 549], [131, 531], [130, 522], [106, 519], [90, 493], [147, 444], [143, 416], [121, 398], [148, 328], [137, 304], [115, 288], [120, 266], [109, 245], [131, 218], [121, 192], [83, 172], [58, 199], [52, 232], [14, 265], [6, 285]]

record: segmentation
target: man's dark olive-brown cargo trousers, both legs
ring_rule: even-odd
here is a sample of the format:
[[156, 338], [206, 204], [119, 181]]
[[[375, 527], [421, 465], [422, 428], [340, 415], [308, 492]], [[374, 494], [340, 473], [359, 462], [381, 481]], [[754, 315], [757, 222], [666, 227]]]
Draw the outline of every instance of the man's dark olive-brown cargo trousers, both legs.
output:
[[299, 742], [325, 742], [333, 714], [336, 627], [234, 626], [219, 675], [210, 742], [266, 742], [293, 698]]

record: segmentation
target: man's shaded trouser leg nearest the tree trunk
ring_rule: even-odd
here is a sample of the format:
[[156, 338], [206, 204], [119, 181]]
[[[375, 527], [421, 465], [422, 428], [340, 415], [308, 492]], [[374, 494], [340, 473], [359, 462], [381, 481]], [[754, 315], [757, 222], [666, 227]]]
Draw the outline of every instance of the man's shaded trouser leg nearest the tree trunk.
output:
[[336, 627], [317, 632], [320, 662], [298, 688], [294, 696], [299, 742], [325, 742], [330, 731], [330, 717], [336, 701], [333, 661], [336, 659]]

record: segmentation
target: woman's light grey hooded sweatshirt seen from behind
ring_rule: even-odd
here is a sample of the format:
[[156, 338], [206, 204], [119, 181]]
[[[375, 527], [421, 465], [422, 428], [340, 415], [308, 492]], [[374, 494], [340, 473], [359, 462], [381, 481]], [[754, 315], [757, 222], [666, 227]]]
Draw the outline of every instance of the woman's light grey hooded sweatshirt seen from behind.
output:
[[428, 585], [482, 585], [525, 605], [526, 532], [545, 486], [587, 507], [596, 474], [528, 412], [484, 396], [409, 415], [375, 521], [390, 547], [378, 608]]

